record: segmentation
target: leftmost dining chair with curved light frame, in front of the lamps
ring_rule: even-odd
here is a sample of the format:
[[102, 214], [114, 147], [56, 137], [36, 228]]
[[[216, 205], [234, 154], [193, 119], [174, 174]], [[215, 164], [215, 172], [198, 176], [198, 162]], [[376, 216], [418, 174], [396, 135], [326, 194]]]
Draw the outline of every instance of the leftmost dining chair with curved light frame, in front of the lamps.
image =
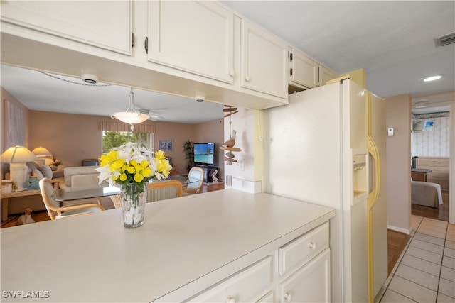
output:
[[40, 180], [39, 184], [41, 197], [43, 197], [44, 206], [48, 210], [48, 214], [51, 220], [61, 219], [68, 216], [77, 216], [80, 214], [90, 214], [93, 212], [105, 210], [103, 206], [95, 203], [81, 203], [60, 206], [60, 203], [55, 201], [52, 197], [55, 189], [51, 180], [48, 178], [43, 178]]

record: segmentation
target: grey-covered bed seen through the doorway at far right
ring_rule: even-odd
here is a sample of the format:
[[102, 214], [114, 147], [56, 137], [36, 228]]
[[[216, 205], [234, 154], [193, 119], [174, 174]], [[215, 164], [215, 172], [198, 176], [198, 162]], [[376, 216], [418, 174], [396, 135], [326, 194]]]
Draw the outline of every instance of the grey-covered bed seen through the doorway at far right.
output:
[[442, 204], [441, 185], [411, 181], [411, 203], [439, 208]]

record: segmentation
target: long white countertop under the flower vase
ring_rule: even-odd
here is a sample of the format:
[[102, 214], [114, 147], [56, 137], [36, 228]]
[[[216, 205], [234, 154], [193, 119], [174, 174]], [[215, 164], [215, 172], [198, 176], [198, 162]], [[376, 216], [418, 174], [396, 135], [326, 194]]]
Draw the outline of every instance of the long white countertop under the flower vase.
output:
[[131, 230], [121, 209], [3, 228], [2, 302], [18, 290], [48, 292], [43, 302], [153, 301], [334, 214], [225, 189], [149, 203], [144, 226]]

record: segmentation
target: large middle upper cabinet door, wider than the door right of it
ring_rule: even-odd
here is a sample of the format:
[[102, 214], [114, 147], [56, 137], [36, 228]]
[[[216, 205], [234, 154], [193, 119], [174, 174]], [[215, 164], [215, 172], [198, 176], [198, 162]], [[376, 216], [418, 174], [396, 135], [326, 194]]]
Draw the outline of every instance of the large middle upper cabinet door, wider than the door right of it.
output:
[[148, 60], [232, 83], [234, 15], [213, 1], [149, 1]]

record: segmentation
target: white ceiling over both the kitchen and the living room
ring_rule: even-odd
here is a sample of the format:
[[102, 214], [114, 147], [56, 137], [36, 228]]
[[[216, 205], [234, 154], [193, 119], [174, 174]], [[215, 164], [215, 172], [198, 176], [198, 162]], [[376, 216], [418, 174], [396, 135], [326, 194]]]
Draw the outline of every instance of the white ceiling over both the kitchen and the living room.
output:
[[[429, 106], [413, 108], [414, 114], [446, 111], [454, 102], [454, 94], [439, 93], [455, 91], [455, 44], [437, 48], [434, 38], [455, 32], [455, 1], [221, 2], [338, 73], [365, 69], [367, 89], [380, 97], [426, 99]], [[443, 77], [422, 81], [431, 75]], [[1, 86], [29, 109], [101, 116], [127, 109], [128, 87], [84, 83], [1, 65]], [[220, 104], [139, 89], [134, 94], [137, 109], [149, 109], [154, 120], [223, 118]]]

